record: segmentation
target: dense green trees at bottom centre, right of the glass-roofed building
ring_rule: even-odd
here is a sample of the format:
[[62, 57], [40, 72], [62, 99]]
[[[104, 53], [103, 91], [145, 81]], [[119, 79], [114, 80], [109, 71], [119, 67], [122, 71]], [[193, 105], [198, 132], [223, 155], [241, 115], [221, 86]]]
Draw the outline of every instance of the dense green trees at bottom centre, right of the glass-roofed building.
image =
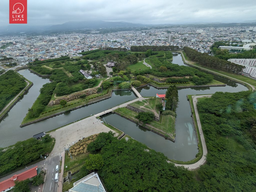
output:
[[100, 151], [104, 165], [97, 171], [108, 191], [200, 190], [192, 172], [168, 163], [163, 153], [145, 148], [133, 139], [118, 140], [109, 132], [100, 133], [87, 149]]

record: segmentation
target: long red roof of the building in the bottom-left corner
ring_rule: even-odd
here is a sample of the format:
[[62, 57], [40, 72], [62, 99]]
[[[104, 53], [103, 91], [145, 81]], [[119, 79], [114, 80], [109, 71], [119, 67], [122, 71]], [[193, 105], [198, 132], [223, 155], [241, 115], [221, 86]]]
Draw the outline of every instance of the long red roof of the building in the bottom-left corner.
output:
[[0, 191], [13, 187], [15, 185], [15, 181], [23, 181], [28, 178], [32, 178], [37, 175], [36, 167], [33, 167], [27, 171], [24, 171], [18, 175], [13, 175], [12, 177], [0, 182]]

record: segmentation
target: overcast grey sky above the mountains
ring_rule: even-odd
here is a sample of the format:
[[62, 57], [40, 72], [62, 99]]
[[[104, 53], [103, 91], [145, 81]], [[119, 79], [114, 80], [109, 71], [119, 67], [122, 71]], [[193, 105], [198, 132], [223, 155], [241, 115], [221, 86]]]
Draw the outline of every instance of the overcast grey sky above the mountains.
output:
[[[104, 20], [143, 24], [242, 22], [256, 19], [255, 0], [28, 0], [30, 25]], [[9, 0], [0, 0], [0, 26], [9, 24]]]

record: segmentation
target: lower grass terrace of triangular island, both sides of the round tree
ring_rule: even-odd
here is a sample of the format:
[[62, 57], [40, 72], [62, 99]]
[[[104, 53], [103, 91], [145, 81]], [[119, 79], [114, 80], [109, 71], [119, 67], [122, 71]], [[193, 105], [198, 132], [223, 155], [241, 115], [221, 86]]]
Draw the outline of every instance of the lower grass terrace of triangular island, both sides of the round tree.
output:
[[[126, 107], [118, 108], [115, 111], [125, 117], [138, 121], [138, 119], [136, 119], [138, 113], [127, 109]], [[153, 120], [148, 124], [153, 126], [155, 128], [155, 131], [175, 138], [175, 117], [173, 117], [172, 115], [163, 115], [161, 116], [160, 121]]]

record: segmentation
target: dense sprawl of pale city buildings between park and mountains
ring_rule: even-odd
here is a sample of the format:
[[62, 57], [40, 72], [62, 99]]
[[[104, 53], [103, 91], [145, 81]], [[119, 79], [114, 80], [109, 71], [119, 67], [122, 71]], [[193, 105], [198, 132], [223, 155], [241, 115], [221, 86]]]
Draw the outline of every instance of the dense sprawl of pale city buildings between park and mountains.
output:
[[[202, 53], [210, 53], [210, 47], [216, 41], [230, 42], [231, 47], [221, 47], [223, 49], [250, 50], [250, 42], [256, 42], [256, 33], [248, 27], [208, 27], [203, 29], [178, 27], [145, 28], [140, 31], [119, 31], [106, 34], [100, 34], [97, 30], [92, 30], [89, 34], [59, 33], [39, 36], [20, 34], [0, 37], [1, 45], [10, 43], [7, 47], [0, 49], [0, 58], [12, 57], [17, 64], [26, 65], [36, 58], [45, 60], [61, 56], [73, 57], [80, 56], [79, 53], [82, 51], [100, 47], [121, 47], [129, 50], [131, 46], [140, 45], [177, 45], [180, 48], [187, 46]], [[241, 46], [234, 47], [232, 46], [233, 42], [237, 42]], [[248, 43], [249, 46], [245, 46]]]

